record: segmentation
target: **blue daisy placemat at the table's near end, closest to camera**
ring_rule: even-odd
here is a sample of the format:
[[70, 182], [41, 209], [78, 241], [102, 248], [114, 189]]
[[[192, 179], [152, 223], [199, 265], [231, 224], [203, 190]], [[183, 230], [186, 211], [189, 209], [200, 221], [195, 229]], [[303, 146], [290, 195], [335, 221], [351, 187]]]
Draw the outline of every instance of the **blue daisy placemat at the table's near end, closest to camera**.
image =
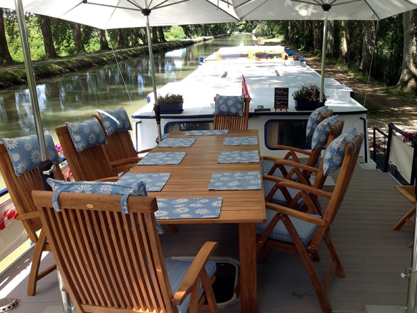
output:
[[222, 198], [157, 198], [158, 219], [173, 218], [218, 218]]

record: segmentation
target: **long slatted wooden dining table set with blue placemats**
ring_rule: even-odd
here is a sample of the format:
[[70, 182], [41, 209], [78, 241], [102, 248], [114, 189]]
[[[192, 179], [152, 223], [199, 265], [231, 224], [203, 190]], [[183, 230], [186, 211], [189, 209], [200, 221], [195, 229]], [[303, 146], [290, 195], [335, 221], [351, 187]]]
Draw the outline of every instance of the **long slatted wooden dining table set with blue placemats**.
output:
[[[222, 198], [218, 218], [160, 219], [161, 224], [238, 224], [240, 258], [241, 312], [257, 312], [256, 300], [256, 236], [255, 224], [265, 222], [263, 185], [257, 190], [209, 190], [213, 172], [259, 171], [261, 163], [218, 163], [220, 151], [257, 150], [257, 145], [223, 145], [226, 137], [256, 136], [256, 129], [229, 131], [227, 135], [187, 136], [187, 131], [170, 134], [167, 138], [195, 138], [190, 147], [154, 147], [150, 152], [186, 152], [177, 165], [138, 165], [133, 173], [170, 172], [162, 191], [149, 192], [158, 198]], [[262, 184], [262, 179], [261, 179]]]

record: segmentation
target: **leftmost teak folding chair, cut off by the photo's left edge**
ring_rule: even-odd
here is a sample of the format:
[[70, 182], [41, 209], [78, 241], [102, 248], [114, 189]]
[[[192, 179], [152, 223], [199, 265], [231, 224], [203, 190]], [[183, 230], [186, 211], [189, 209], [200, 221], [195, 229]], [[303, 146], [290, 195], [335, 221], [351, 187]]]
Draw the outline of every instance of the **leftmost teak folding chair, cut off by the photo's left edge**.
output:
[[[28, 278], [28, 296], [34, 296], [36, 293], [36, 284], [38, 280], [44, 278], [47, 274], [56, 269], [56, 265], [49, 266], [43, 271], [39, 271], [40, 260], [43, 251], [51, 251], [47, 236], [42, 228], [40, 214], [33, 203], [31, 191], [42, 190], [42, 179], [38, 169], [28, 170], [22, 175], [17, 176], [10, 160], [6, 147], [3, 143], [0, 144], [0, 170], [3, 175], [4, 182], [8, 188], [10, 198], [15, 204], [17, 219], [22, 220], [26, 233], [34, 244], [34, 253], [32, 259], [31, 272]], [[54, 172], [56, 179], [64, 179], [63, 173], [59, 166], [56, 166]], [[36, 232], [40, 230], [39, 236]]]

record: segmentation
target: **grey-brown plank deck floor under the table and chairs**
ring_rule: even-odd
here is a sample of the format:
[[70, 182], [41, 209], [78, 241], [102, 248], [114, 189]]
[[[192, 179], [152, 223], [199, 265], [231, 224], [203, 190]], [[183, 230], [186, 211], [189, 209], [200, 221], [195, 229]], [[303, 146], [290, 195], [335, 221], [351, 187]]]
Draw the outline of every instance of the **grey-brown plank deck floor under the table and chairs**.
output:
[[[407, 245], [414, 231], [407, 225], [400, 231], [392, 230], [396, 221], [411, 208], [411, 203], [394, 190], [395, 184], [398, 183], [389, 174], [378, 170], [357, 166], [354, 172], [332, 226], [332, 238], [346, 272], [345, 278], [335, 277], [327, 289], [333, 312], [367, 312], [367, 306], [404, 307], [406, 303], [408, 280], [400, 274], [411, 264], [411, 249]], [[195, 255], [206, 240], [219, 241], [216, 255], [238, 257], [236, 225], [179, 225], [178, 230], [161, 236], [165, 257]], [[317, 266], [323, 272], [328, 263], [327, 251], [324, 246], [321, 248], [322, 260]], [[1, 275], [0, 298], [22, 300], [15, 312], [62, 312], [54, 273], [38, 282], [36, 296], [26, 296], [26, 268], [31, 253]], [[46, 255], [44, 266], [51, 262], [51, 255]], [[258, 263], [257, 271], [259, 313], [321, 312], [297, 255], [273, 251], [268, 262]], [[10, 287], [15, 282], [17, 286]], [[240, 303], [220, 312], [240, 312]]]

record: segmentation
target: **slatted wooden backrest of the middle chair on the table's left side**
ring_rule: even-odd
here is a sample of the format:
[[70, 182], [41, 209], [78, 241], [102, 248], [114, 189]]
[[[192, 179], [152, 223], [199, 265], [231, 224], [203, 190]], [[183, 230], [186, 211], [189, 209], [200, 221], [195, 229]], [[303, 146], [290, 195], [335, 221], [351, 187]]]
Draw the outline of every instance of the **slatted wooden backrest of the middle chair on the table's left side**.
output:
[[102, 145], [90, 147], [83, 150], [83, 152], [77, 152], [66, 126], [58, 127], [55, 131], [76, 181], [93, 181], [115, 176], [108, 154]]

